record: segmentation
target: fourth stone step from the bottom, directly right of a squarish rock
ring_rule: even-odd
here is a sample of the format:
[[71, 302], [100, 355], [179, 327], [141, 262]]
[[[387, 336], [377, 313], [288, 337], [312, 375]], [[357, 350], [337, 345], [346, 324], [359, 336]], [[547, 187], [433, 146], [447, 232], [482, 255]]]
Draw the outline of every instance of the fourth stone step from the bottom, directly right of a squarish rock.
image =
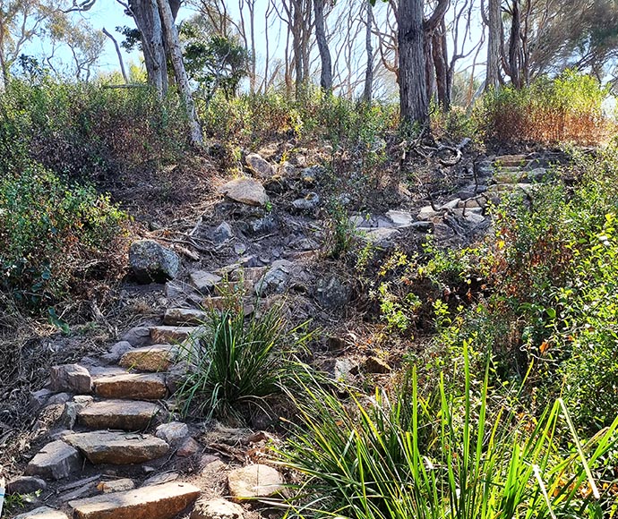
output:
[[94, 381], [95, 393], [105, 398], [159, 400], [167, 395], [165, 377], [156, 373], [123, 373]]

